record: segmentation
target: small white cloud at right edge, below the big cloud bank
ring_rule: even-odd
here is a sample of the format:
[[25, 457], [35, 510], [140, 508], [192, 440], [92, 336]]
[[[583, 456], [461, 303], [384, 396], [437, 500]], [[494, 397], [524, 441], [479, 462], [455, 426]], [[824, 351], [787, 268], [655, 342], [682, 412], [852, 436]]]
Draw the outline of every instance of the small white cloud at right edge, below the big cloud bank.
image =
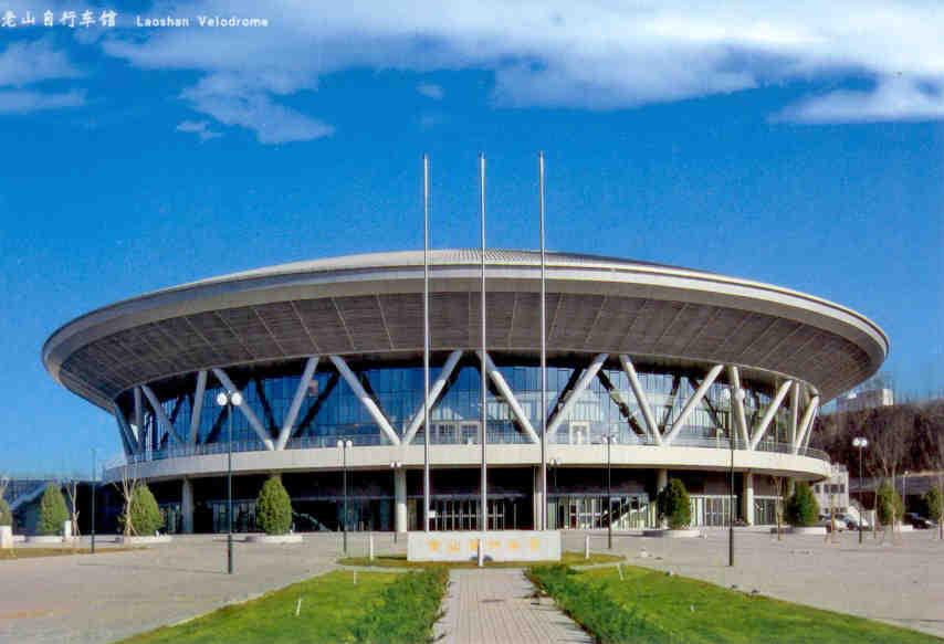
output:
[[869, 92], [830, 92], [789, 107], [780, 117], [815, 124], [937, 120], [944, 118], [944, 84], [883, 78]]

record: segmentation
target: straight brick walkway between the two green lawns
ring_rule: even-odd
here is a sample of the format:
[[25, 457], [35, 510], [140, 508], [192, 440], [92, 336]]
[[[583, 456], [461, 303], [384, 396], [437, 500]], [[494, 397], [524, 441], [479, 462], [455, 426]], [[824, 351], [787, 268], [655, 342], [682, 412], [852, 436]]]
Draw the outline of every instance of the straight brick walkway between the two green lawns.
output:
[[590, 643], [552, 600], [532, 599], [521, 570], [453, 570], [436, 634], [447, 644]]

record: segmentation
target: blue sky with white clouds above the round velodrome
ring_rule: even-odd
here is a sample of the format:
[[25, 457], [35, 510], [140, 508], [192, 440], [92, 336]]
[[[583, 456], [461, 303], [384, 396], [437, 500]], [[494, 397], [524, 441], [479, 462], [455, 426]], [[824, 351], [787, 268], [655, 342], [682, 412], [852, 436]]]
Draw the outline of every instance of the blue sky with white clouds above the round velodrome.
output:
[[[0, 471], [119, 450], [43, 370], [57, 326], [216, 274], [418, 247], [423, 152], [437, 246], [478, 243], [480, 151], [490, 245], [536, 246], [543, 149], [552, 249], [837, 300], [889, 334], [902, 392], [941, 392], [941, 11], [570, 4], [137, 3], [90, 6], [114, 29], [0, 28]], [[0, 0], [0, 18], [45, 8]]]

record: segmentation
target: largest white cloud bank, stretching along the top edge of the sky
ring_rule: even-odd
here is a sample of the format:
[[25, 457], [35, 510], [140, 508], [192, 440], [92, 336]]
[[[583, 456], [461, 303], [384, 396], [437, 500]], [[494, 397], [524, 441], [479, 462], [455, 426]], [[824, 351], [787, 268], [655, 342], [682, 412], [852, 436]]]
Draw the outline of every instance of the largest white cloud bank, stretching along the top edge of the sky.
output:
[[[157, 2], [150, 12], [175, 10]], [[221, 123], [255, 130], [263, 142], [331, 134], [277, 98], [353, 68], [484, 70], [494, 74], [499, 105], [591, 109], [790, 80], [880, 81], [868, 96], [812, 97], [784, 112], [810, 120], [856, 120], [857, 113], [937, 118], [936, 94], [920, 88], [944, 85], [944, 4], [931, 0], [468, 0], [415, 1], [398, 11], [379, 0], [202, 0], [178, 12], [261, 15], [271, 27], [158, 30], [133, 40], [118, 31], [103, 46], [138, 67], [203, 73], [183, 97]], [[912, 91], [883, 91], [891, 77]], [[817, 107], [817, 99], [825, 103]]]

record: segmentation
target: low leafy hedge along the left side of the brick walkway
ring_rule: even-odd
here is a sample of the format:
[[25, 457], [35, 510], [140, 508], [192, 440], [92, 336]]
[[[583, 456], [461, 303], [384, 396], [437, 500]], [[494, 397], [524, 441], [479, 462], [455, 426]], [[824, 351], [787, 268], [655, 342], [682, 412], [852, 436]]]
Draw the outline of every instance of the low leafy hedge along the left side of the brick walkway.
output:
[[357, 642], [430, 642], [449, 582], [443, 567], [400, 574], [355, 626]]

